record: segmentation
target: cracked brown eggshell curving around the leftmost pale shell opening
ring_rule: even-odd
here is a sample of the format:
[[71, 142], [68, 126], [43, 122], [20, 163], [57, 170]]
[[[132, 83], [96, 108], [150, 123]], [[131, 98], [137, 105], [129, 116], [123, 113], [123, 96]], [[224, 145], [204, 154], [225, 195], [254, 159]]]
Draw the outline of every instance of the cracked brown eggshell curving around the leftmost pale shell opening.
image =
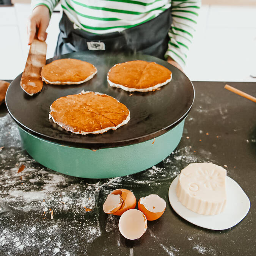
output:
[[111, 194], [112, 195], [121, 195], [121, 197], [123, 199], [123, 204], [122, 204], [121, 208], [119, 210], [117, 210], [116, 212], [113, 212], [114, 215], [121, 216], [127, 210], [135, 208], [137, 201], [136, 201], [135, 196], [133, 195], [133, 193], [130, 190], [120, 188], [120, 189], [114, 190]]

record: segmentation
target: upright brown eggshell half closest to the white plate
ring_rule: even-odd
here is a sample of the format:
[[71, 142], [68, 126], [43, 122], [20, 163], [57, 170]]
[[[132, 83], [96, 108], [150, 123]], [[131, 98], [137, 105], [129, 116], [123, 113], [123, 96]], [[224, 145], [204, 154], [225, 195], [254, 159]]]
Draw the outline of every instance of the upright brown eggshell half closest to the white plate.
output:
[[157, 220], [163, 215], [165, 208], [165, 200], [158, 195], [142, 197], [138, 202], [138, 209], [143, 212], [147, 220]]

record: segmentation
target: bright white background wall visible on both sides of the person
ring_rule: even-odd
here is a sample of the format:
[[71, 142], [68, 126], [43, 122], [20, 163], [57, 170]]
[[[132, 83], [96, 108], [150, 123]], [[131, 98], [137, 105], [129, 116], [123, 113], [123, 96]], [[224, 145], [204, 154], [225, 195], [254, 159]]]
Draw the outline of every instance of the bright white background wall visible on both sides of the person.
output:
[[[199, 81], [256, 79], [256, 6], [203, 5], [185, 73]], [[29, 4], [0, 8], [0, 79], [14, 79], [25, 67]], [[59, 33], [60, 13], [53, 13], [47, 30], [47, 58]]]

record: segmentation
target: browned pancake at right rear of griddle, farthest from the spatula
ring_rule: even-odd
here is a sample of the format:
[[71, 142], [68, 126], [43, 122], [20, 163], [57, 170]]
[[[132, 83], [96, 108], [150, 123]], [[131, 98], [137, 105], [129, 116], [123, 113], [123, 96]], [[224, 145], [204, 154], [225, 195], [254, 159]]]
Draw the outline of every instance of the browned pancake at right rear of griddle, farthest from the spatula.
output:
[[155, 62], [133, 60], [115, 64], [108, 72], [110, 86], [125, 91], [153, 91], [171, 81], [171, 71]]

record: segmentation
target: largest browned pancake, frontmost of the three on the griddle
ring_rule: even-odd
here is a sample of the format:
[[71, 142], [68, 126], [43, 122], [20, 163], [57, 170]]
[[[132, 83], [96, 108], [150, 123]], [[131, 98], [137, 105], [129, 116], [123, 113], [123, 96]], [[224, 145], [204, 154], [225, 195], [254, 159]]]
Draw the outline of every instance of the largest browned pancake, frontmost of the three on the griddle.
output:
[[73, 133], [98, 134], [127, 124], [130, 112], [111, 96], [82, 91], [54, 101], [50, 106], [49, 119]]

